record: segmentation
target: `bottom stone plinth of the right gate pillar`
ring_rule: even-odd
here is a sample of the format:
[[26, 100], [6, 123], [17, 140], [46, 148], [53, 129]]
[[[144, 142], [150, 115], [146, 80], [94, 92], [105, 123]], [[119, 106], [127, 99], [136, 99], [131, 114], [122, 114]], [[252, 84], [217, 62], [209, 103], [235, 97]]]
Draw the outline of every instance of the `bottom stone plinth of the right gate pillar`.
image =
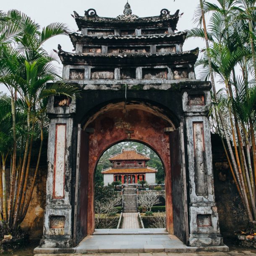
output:
[[189, 246], [206, 247], [206, 246], [223, 246], [221, 235], [189, 235]]

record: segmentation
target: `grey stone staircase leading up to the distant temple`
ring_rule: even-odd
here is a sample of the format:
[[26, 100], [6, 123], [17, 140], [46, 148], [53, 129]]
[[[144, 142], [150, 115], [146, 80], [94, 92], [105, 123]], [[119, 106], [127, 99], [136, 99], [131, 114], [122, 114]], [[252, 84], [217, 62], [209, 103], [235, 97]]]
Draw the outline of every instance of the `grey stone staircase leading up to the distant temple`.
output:
[[123, 212], [138, 212], [136, 185], [124, 185]]

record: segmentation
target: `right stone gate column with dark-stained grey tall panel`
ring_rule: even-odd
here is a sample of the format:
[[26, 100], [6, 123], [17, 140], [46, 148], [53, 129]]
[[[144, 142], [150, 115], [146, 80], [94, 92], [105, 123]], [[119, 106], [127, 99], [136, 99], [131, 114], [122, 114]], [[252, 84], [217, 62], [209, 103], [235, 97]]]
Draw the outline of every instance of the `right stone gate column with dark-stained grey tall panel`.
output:
[[221, 246], [214, 197], [212, 145], [208, 111], [210, 91], [183, 91], [189, 181], [189, 245]]

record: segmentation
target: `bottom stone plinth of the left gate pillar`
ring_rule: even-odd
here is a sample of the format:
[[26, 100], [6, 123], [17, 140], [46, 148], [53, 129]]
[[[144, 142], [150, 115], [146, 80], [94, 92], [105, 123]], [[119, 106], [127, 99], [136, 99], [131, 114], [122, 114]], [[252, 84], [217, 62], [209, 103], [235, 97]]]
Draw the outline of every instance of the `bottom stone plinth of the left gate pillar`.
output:
[[71, 235], [44, 235], [40, 240], [41, 248], [71, 248], [73, 240]]

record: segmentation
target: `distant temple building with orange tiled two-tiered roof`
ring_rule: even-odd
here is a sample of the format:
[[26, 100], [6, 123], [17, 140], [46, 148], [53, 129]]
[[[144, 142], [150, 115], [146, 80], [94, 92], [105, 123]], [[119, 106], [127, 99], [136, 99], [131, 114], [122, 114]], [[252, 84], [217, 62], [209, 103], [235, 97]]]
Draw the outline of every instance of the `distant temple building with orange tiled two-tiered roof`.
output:
[[122, 149], [121, 153], [110, 157], [112, 167], [102, 170], [104, 185], [113, 181], [121, 181], [122, 184], [138, 183], [146, 180], [149, 184], [156, 183], [157, 169], [148, 167], [150, 158], [136, 149]]

